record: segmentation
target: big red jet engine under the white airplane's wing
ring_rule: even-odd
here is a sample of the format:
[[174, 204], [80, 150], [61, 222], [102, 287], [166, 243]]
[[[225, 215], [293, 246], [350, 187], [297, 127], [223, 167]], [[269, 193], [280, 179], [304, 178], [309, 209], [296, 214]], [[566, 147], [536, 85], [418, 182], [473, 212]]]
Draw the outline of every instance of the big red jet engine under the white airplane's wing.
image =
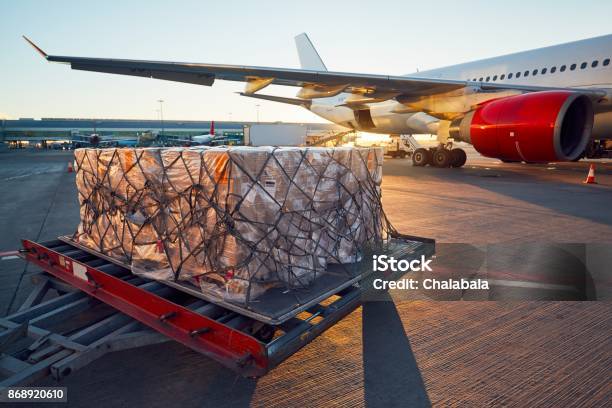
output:
[[571, 91], [533, 92], [494, 99], [453, 121], [450, 136], [484, 156], [527, 162], [569, 161], [584, 151], [593, 105]]

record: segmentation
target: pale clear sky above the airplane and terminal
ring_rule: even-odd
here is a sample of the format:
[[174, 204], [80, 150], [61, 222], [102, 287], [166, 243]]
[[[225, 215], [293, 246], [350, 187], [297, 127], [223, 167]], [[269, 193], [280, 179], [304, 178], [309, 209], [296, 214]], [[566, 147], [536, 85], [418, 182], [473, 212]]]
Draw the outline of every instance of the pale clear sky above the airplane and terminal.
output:
[[[73, 71], [55, 55], [299, 67], [307, 32], [331, 71], [402, 75], [610, 33], [612, 1], [0, 0], [0, 118], [325, 122], [213, 87]], [[296, 88], [265, 93], [295, 96]]]

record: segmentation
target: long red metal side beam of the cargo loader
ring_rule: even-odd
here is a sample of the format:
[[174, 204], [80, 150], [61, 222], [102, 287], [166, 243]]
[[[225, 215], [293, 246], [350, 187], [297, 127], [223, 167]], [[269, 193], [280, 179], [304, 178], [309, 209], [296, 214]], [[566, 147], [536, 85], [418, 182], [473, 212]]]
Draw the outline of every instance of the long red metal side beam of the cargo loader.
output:
[[33, 241], [22, 243], [28, 261], [160, 333], [247, 376], [268, 371], [265, 345], [254, 337]]

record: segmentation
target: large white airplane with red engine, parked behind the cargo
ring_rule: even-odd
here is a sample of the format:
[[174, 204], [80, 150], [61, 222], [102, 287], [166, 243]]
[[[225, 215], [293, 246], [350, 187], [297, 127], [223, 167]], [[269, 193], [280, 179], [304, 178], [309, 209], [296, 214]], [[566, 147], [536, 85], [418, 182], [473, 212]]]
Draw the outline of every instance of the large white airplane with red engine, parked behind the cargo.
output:
[[[405, 76], [328, 71], [308, 36], [295, 37], [301, 69], [48, 55], [72, 69], [212, 86], [245, 82], [240, 94], [301, 106], [370, 133], [436, 134], [413, 164], [461, 167], [470, 143], [504, 162], [573, 161], [612, 153], [612, 34]], [[296, 98], [259, 93], [300, 87]]]

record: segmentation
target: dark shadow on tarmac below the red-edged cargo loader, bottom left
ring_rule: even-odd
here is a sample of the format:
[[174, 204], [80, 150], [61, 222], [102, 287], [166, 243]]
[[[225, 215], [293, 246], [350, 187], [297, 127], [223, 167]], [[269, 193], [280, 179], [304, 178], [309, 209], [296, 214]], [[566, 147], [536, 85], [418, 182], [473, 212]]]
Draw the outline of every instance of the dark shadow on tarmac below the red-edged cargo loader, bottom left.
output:
[[258, 380], [243, 378], [182, 344], [168, 342], [111, 353], [77, 373], [36, 386], [68, 389], [55, 407], [250, 407]]

